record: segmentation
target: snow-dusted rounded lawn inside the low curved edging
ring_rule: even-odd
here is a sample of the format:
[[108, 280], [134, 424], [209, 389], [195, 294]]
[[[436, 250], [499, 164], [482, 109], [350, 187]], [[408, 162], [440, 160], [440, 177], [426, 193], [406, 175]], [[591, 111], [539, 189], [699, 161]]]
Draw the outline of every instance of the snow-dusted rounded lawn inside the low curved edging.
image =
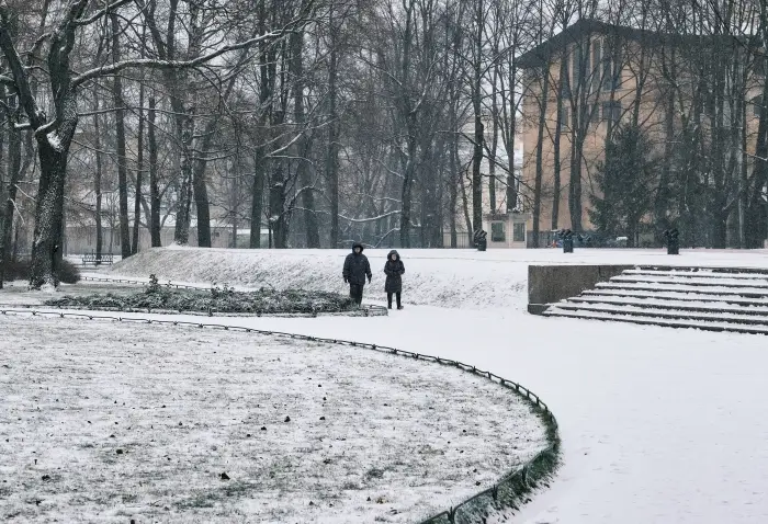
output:
[[0, 332], [3, 522], [413, 523], [545, 446], [508, 389], [375, 351], [12, 316]]

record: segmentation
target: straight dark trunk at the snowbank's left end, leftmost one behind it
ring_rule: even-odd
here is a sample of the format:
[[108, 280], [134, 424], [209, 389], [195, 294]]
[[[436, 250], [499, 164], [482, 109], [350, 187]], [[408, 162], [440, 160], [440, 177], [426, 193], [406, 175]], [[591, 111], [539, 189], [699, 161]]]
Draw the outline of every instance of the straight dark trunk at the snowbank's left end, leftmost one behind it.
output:
[[[112, 60], [120, 61], [120, 22], [116, 13], [112, 21]], [[117, 192], [120, 198], [120, 242], [123, 259], [131, 257], [131, 226], [128, 224], [128, 167], [125, 157], [125, 112], [123, 106], [123, 80], [115, 75], [112, 83], [112, 101], [115, 106], [115, 133], [117, 138]]]

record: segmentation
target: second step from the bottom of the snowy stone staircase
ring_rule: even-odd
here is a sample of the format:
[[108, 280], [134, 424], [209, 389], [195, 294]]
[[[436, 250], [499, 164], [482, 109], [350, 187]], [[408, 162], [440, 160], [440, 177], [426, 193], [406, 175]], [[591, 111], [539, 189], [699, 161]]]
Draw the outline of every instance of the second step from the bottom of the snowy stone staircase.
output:
[[685, 309], [665, 309], [651, 306], [629, 306], [614, 304], [568, 304], [558, 303], [558, 309], [569, 311], [590, 311], [633, 317], [660, 318], [674, 320], [697, 320], [701, 322], [736, 322], [749, 326], [764, 326], [768, 329], [768, 315], [741, 315], [738, 312], [699, 312]]

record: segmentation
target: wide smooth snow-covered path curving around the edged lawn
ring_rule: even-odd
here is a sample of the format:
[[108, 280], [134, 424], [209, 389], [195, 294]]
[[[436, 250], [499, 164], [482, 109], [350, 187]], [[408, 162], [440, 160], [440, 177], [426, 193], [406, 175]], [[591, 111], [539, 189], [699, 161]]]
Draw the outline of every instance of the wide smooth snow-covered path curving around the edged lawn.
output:
[[565, 464], [516, 522], [768, 522], [764, 337], [432, 307], [216, 321], [458, 358], [540, 394]]

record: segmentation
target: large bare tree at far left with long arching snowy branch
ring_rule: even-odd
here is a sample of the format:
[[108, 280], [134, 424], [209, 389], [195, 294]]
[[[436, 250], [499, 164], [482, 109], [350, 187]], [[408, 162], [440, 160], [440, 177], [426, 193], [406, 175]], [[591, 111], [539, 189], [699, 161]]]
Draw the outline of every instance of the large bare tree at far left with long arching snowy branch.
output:
[[[178, 0], [170, 0], [171, 8], [178, 5]], [[69, 0], [65, 9], [57, 12], [57, 21], [49, 33], [41, 32], [36, 46], [39, 54], [44, 54], [47, 65], [47, 82], [50, 100], [54, 106], [53, 118], [41, 105], [41, 101], [32, 90], [31, 81], [33, 71], [25, 67], [21, 55], [16, 49], [13, 34], [10, 31], [11, 11], [7, 1], [0, 4], [0, 50], [9, 66], [9, 71], [0, 75], [0, 81], [7, 84], [20, 98], [25, 121], [20, 125], [34, 130], [37, 140], [37, 151], [41, 166], [39, 190], [37, 194], [37, 207], [35, 217], [35, 232], [32, 255], [32, 275], [30, 284], [33, 288], [43, 285], [57, 285], [56, 264], [61, 259], [60, 239], [63, 236], [63, 209], [64, 189], [67, 174], [67, 157], [75, 136], [79, 115], [77, 102], [80, 88], [98, 78], [114, 76], [128, 68], [154, 68], [162, 71], [179, 71], [195, 68], [233, 50], [252, 46], [260, 42], [271, 42], [283, 37], [290, 29], [295, 27], [306, 20], [306, 13], [300, 19], [289, 21], [284, 27], [260, 34], [253, 38], [235, 44], [219, 45], [206, 54], [196, 55], [189, 59], [178, 59], [174, 53], [168, 53], [167, 44], [156, 38], [158, 48], [165, 47], [165, 54], [157, 58], [125, 58], [112, 61], [109, 65], [99, 66], [81, 73], [76, 73], [71, 67], [72, 52], [77, 36], [88, 31], [93, 24], [104, 16], [110, 16], [120, 9], [132, 8], [133, 0], [117, 0], [106, 7], [97, 7], [88, 0]], [[144, 10], [149, 27], [157, 34], [154, 10]], [[169, 25], [172, 25], [169, 24]], [[174, 32], [169, 31], [173, 35]], [[43, 50], [45, 47], [45, 50]], [[37, 53], [31, 54], [36, 56]], [[121, 57], [122, 58], [122, 57]], [[178, 99], [178, 96], [177, 96]], [[181, 107], [183, 110], [183, 107]], [[189, 118], [183, 118], [183, 111], [179, 112], [179, 127], [181, 128], [181, 141], [189, 146], [192, 136]], [[184, 155], [184, 161], [191, 160], [189, 147]], [[191, 167], [187, 163], [182, 172], [189, 172]], [[188, 180], [188, 183], [190, 181]], [[182, 183], [183, 186], [183, 183]], [[182, 190], [183, 193], [183, 190]], [[183, 207], [183, 205], [182, 205]], [[185, 220], [182, 212], [182, 221]], [[179, 238], [183, 240], [183, 231]]]

